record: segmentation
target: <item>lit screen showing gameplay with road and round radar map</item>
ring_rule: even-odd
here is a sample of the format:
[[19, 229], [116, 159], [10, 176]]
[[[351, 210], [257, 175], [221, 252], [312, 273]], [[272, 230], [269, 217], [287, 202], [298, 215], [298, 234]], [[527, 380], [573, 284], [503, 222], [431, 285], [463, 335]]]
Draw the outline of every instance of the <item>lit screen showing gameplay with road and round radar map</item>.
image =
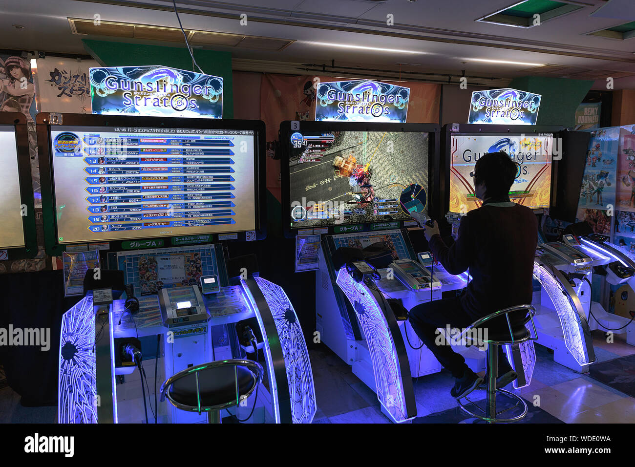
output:
[[428, 133], [295, 132], [288, 144], [291, 228], [427, 212]]

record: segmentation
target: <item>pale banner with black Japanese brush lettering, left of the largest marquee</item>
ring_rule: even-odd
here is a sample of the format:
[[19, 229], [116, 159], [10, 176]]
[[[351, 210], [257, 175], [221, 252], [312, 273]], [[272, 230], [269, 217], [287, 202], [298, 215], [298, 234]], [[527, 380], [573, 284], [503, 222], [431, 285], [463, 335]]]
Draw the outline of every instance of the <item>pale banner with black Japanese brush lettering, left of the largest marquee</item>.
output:
[[38, 58], [34, 69], [38, 111], [90, 114], [90, 68], [98, 66], [95, 60]]

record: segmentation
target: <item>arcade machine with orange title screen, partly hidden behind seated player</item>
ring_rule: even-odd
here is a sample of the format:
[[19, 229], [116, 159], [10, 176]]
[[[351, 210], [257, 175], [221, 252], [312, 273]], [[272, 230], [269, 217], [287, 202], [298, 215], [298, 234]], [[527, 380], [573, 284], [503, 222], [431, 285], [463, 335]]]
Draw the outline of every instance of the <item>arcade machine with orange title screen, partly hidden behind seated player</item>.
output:
[[[460, 217], [481, 206], [474, 194], [471, 172], [481, 155], [504, 151], [518, 163], [519, 173], [509, 193], [515, 203], [530, 207], [538, 216], [552, 203], [554, 155], [563, 151], [563, 128], [533, 125], [471, 125], [452, 123], [444, 126], [445, 187], [450, 194], [445, 209], [448, 220], [457, 229]], [[558, 138], [558, 140], [556, 140]], [[560, 142], [560, 144], [558, 144]], [[442, 189], [443, 192], [443, 189]], [[540, 225], [540, 222], [538, 222]], [[562, 242], [545, 242], [538, 232], [534, 277], [535, 323], [538, 344], [554, 350], [554, 360], [584, 372], [596, 360], [589, 307], [591, 304], [592, 267], [606, 258], [594, 250], [575, 249]], [[526, 384], [535, 365], [533, 342], [512, 349], [507, 356], [512, 366], [523, 363]], [[519, 360], [521, 358], [521, 360]], [[514, 382], [521, 387], [522, 382]]]

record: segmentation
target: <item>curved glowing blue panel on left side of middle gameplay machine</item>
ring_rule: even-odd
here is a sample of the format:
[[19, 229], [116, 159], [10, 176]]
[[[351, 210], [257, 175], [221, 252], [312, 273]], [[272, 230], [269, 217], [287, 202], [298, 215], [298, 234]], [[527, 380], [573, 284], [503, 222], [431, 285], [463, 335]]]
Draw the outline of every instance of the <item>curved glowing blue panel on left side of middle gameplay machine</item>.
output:
[[401, 385], [401, 369], [384, 313], [370, 291], [354, 281], [344, 268], [337, 273], [337, 285], [351, 302], [366, 337], [379, 402], [394, 421], [406, 421], [408, 412]]

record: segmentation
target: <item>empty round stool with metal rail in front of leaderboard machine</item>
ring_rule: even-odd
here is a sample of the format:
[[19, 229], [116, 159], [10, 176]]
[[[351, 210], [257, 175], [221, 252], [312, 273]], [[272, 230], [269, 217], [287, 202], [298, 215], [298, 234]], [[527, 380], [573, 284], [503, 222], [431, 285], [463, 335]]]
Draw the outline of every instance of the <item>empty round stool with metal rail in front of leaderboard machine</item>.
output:
[[207, 412], [208, 423], [220, 423], [220, 410], [238, 405], [255, 391], [264, 372], [253, 360], [217, 360], [186, 368], [161, 384], [168, 399], [186, 412]]

